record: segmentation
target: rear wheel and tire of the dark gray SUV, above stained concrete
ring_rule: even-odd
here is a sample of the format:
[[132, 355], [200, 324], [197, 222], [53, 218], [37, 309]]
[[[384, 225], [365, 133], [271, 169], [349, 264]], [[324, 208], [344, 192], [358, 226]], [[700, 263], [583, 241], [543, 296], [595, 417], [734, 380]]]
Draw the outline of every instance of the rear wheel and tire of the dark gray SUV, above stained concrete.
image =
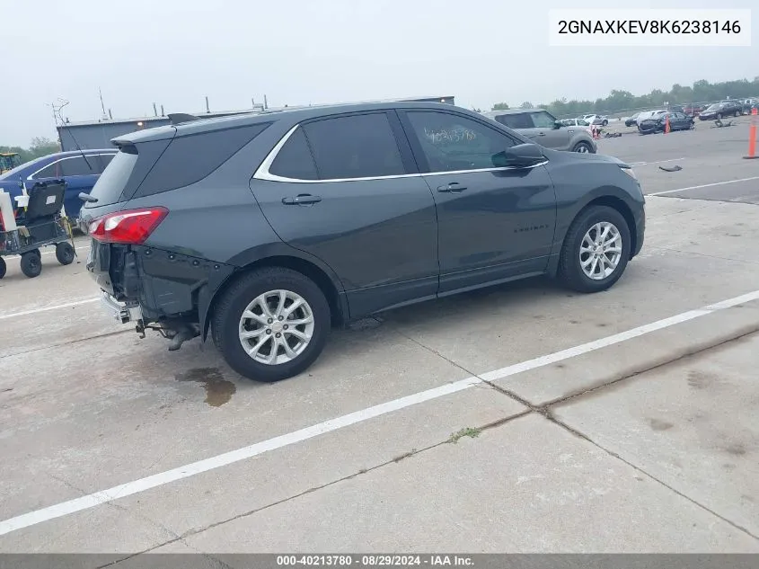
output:
[[322, 353], [330, 306], [313, 280], [280, 267], [245, 274], [219, 298], [216, 348], [237, 373], [273, 382], [303, 372]]

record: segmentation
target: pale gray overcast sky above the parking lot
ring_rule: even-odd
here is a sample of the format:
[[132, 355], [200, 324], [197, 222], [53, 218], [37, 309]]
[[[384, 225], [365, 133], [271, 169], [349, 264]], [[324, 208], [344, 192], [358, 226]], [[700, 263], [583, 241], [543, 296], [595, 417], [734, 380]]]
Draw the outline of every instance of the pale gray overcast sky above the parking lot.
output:
[[[552, 48], [560, 7], [749, 8], [755, 0], [0, 0], [0, 144], [55, 137], [72, 121], [167, 112], [455, 95], [493, 102], [635, 94], [759, 75], [751, 48]], [[755, 10], [759, 13], [759, 7]], [[753, 26], [754, 28], [759, 26]]]

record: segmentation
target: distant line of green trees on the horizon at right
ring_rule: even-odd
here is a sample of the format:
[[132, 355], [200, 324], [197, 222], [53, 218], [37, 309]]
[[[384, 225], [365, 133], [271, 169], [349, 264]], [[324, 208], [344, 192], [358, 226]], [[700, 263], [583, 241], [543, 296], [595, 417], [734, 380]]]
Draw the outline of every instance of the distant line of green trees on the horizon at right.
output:
[[[648, 107], [661, 107], [666, 102], [671, 104], [684, 104], [687, 102], [710, 102], [722, 99], [747, 99], [759, 96], [759, 76], [753, 81], [738, 79], [737, 81], [725, 81], [722, 83], [710, 83], [706, 79], [696, 81], [692, 86], [674, 84], [669, 91], [654, 89], [650, 93], [634, 95], [630, 91], [613, 89], [607, 97], [591, 100], [568, 100], [566, 97], [556, 101], [534, 105], [525, 101], [518, 108], [531, 109], [539, 107], [550, 111], [559, 117], [562, 115], [577, 116], [578, 114], [596, 112], [599, 114], [627, 111], [631, 109], [644, 109]], [[507, 102], [497, 102], [492, 106], [493, 111], [509, 109]]]

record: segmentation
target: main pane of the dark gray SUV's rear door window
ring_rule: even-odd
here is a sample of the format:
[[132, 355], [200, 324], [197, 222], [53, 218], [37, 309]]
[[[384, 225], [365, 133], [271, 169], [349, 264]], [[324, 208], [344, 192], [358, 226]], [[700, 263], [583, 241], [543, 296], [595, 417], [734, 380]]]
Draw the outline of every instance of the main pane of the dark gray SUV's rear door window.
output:
[[384, 112], [317, 120], [304, 133], [321, 180], [406, 173]]

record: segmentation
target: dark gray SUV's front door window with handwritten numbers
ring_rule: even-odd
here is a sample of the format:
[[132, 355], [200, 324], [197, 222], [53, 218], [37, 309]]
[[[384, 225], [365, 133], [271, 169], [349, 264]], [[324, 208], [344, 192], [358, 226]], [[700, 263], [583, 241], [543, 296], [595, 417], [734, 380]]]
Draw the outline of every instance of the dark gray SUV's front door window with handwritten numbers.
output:
[[498, 130], [459, 115], [437, 111], [406, 114], [430, 172], [496, 168], [493, 155], [515, 145]]

